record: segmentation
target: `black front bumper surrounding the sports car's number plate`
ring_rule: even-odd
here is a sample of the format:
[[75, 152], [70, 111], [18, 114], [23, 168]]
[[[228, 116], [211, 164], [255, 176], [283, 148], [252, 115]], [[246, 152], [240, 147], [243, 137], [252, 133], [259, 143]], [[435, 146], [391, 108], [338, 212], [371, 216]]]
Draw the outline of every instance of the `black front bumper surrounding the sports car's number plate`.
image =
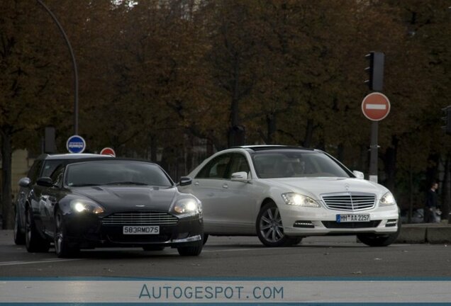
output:
[[65, 215], [67, 239], [80, 248], [108, 246], [195, 246], [202, 241], [203, 220], [199, 216], [179, 218], [176, 225], [158, 225], [159, 234], [123, 234], [124, 226], [142, 224], [104, 224], [96, 215]]

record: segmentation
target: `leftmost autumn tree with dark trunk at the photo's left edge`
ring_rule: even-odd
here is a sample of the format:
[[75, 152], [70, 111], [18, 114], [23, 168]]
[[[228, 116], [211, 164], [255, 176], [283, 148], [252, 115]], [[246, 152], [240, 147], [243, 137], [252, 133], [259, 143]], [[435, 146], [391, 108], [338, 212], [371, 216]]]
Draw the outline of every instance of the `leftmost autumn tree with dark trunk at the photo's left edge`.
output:
[[[60, 111], [56, 102], [62, 98], [58, 82], [64, 71], [58, 69], [61, 57], [57, 52], [60, 50], [52, 45], [54, 37], [60, 36], [57, 36], [57, 28], [42, 31], [43, 28], [35, 26], [52, 23], [46, 21], [46, 13], [40, 9], [37, 4], [23, 1], [2, 1], [0, 4], [3, 21], [0, 23], [0, 137], [4, 228], [11, 228], [13, 224], [11, 154], [17, 147], [14, 143], [23, 142], [23, 132], [33, 135]], [[48, 112], [50, 107], [52, 113]]]

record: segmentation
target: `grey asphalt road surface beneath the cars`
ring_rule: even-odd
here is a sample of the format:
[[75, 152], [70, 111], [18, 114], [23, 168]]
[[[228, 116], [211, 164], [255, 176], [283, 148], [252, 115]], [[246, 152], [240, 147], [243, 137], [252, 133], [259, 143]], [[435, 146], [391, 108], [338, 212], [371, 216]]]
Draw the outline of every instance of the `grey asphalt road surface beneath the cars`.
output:
[[210, 237], [200, 256], [176, 249], [94, 249], [57, 259], [30, 254], [0, 231], [1, 277], [436, 278], [451, 276], [447, 244], [369, 247], [355, 237], [308, 237], [297, 246], [267, 248], [256, 237]]

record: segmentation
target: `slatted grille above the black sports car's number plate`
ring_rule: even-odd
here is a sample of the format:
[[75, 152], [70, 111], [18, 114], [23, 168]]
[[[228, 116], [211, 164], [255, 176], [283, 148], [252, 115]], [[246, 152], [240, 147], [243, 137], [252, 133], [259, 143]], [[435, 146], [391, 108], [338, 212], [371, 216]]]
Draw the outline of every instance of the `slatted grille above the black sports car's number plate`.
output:
[[104, 217], [104, 225], [177, 225], [177, 217], [167, 212], [118, 212]]

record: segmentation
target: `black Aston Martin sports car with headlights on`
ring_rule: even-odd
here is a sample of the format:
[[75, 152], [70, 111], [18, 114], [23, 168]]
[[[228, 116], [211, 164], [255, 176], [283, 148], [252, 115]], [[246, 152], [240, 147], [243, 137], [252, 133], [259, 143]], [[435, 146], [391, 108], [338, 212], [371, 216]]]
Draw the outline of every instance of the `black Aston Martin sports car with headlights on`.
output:
[[157, 164], [127, 159], [84, 159], [40, 177], [26, 201], [26, 248], [58, 257], [98, 246], [202, 250], [202, 207], [177, 191]]

